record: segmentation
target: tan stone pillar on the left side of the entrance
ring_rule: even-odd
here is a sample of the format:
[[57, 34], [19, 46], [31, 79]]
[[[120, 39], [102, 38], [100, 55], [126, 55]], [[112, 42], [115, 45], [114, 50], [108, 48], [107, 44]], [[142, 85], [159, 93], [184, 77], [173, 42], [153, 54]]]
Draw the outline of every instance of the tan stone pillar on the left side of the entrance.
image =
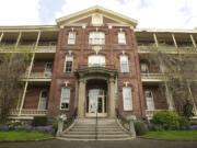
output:
[[85, 102], [85, 81], [84, 79], [79, 80], [79, 98], [78, 98], [78, 117], [84, 117], [84, 102]]

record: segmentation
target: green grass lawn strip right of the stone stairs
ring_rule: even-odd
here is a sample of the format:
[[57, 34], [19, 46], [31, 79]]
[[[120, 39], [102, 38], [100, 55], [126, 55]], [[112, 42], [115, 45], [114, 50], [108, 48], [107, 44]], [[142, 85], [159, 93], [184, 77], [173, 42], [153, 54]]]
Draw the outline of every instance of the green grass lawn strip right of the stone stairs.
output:
[[143, 137], [158, 139], [197, 139], [197, 130], [149, 132]]

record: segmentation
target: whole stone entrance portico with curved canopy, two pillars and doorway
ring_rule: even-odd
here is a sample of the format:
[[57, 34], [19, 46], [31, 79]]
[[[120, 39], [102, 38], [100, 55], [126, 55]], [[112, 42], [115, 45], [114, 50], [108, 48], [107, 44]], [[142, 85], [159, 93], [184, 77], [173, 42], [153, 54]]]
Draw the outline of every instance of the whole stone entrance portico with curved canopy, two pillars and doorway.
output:
[[79, 80], [78, 117], [101, 116], [115, 118], [115, 79], [117, 69], [82, 67], [77, 69]]

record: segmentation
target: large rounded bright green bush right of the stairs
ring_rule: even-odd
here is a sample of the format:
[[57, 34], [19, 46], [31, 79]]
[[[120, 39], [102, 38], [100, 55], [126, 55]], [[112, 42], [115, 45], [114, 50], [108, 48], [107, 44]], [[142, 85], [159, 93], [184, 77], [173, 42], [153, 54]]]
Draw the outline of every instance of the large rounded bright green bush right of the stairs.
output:
[[178, 115], [167, 110], [155, 113], [152, 122], [164, 129], [176, 129], [179, 126]]

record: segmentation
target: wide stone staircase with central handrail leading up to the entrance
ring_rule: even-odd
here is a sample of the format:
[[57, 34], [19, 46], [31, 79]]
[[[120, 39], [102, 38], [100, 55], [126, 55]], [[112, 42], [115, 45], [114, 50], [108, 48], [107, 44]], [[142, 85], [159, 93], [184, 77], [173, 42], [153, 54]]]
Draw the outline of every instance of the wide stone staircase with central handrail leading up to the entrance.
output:
[[126, 140], [132, 137], [120, 127], [116, 119], [82, 118], [76, 119], [73, 125], [57, 138], [65, 140]]

